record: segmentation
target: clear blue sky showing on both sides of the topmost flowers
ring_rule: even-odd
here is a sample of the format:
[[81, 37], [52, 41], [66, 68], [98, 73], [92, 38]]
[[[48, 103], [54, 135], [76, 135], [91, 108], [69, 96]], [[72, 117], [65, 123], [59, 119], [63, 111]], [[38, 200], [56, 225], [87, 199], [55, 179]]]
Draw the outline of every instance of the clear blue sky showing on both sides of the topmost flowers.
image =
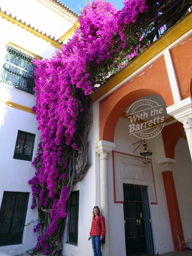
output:
[[[124, 0], [111, 0], [111, 3], [114, 3], [114, 6], [118, 5], [117, 9], [121, 10], [124, 7], [123, 1]], [[80, 14], [79, 6], [81, 8], [85, 7], [85, 0], [60, 0], [60, 2], [68, 6], [73, 11], [76, 11], [78, 14]]]

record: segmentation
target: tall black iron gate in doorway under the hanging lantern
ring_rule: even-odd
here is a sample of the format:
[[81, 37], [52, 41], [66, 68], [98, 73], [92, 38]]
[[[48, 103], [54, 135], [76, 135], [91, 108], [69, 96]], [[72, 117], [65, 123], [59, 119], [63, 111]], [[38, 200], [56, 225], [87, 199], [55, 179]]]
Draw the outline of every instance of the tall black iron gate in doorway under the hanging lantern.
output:
[[123, 184], [123, 191], [126, 254], [155, 254], [147, 187]]

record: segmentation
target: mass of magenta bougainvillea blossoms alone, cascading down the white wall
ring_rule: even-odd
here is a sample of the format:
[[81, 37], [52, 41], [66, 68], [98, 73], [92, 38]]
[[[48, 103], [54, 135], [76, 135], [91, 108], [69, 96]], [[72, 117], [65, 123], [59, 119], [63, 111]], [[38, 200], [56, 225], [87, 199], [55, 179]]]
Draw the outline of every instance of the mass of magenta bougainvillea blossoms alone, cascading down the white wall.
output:
[[[139, 12], [147, 9], [144, 0], [125, 0], [124, 8], [117, 11], [113, 4], [105, 0], [87, 3], [79, 17], [79, 28], [73, 37], [56, 50], [52, 58], [35, 60], [35, 87], [37, 104], [33, 111], [37, 114], [42, 141], [33, 161], [37, 172], [28, 182], [33, 186], [31, 208], [39, 204], [46, 206], [48, 198], [55, 196], [57, 184], [65, 177], [67, 164], [61, 161], [62, 145], [77, 149], [75, 143], [76, 121], [83, 111], [81, 102], [76, 98], [77, 90], [85, 95], [92, 91], [89, 68], [105, 63], [110, 58], [114, 33], [124, 40], [124, 27], [135, 22]], [[121, 43], [121, 42], [120, 42]], [[41, 162], [41, 165], [38, 163]], [[63, 166], [62, 166], [63, 165]], [[61, 166], [63, 171], [61, 171]], [[52, 223], [43, 237], [38, 238], [36, 248], [43, 246], [48, 253], [46, 238], [57, 228], [57, 219], [66, 217], [65, 200], [67, 187], [63, 187], [59, 200], [55, 199], [51, 211]], [[48, 191], [48, 193], [47, 193]]]

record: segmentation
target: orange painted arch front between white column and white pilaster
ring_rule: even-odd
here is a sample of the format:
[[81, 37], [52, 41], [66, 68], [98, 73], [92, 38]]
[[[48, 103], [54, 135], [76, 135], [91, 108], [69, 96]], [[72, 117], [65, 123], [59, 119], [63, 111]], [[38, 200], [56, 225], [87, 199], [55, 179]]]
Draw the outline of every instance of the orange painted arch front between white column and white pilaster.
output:
[[174, 104], [164, 56], [100, 101], [100, 140], [114, 142], [114, 130], [124, 110], [135, 100], [154, 94], [161, 95], [167, 106]]

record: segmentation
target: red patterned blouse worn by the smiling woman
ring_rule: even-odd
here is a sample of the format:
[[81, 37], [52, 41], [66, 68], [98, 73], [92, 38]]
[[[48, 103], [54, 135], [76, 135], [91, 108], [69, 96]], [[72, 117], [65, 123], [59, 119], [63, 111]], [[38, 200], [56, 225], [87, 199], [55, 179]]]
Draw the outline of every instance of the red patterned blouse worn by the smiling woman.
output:
[[[100, 222], [101, 217], [101, 222]], [[105, 236], [105, 218], [103, 215], [98, 216], [97, 218], [94, 216], [92, 219], [90, 236]], [[102, 232], [101, 232], [101, 223], [102, 223]]]

